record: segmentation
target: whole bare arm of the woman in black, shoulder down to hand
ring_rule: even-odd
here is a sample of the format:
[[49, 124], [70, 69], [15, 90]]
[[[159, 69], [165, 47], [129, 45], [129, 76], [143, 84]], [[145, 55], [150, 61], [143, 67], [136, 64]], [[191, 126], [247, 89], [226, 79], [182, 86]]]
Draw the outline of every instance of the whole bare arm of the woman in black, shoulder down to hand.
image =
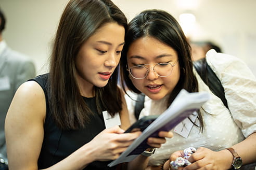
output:
[[[7, 113], [5, 132], [9, 169], [38, 169], [46, 115], [45, 96], [34, 81], [23, 83]], [[117, 159], [139, 132], [121, 134], [116, 126], [106, 129], [67, 158], [47, 169], [83, 169], [93, 161]], [[104, 141], [104, 142], [103, 142]]]

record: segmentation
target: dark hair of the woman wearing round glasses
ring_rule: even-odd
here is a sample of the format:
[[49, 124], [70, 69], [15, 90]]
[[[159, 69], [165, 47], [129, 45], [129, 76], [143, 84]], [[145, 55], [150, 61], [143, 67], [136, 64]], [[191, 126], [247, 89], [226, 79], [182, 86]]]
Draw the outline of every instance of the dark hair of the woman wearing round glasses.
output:
[[[170, 94], [168, 106], [171, 105], [181, 89], [186, 89], [188, 92], [197, 92], [198, 82], [193, 73], [193, 63], [190, 53], [191, 49], [188, 40], [176, 19], [168, 12], [158, 9], [145, 10], [139, 13], [128, 25], [128, 30], [125, 35], [125, 45], [120, 61], [123, 89], [127, 87], [135, 93], [140, 93], [140, 91], [133, 85], [129, 78], [129, 72], [126, 70], [126, 55], [130, 45], [136, 39], [146, 36], [156, 38], [162, 43], [172, 47], [178, 54], [181, 75], [174, 90]], [[199, 120], [201, 120], [201, 115], [199, 116]], [[203, 124], [201, 124], [201, 127], [202, 126]]]

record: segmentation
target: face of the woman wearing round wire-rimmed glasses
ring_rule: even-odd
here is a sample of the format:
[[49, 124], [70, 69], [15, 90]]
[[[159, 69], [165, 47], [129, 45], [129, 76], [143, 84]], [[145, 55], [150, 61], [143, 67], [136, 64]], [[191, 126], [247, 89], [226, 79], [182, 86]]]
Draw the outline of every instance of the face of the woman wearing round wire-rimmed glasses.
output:
[[[171, 74], [167, 77], [158, 76], [152, 69], [156, 63], [170, 63], [174, 65]], [[152, 37], [142, 37], [131, 44], [127, 52], [127, 64], [128, 68], [136, 65], [149, 64], [146, 65], [150, 69], [148, 69], [149, 72], [145, 78], [135, 79], [131, 75], [130, 77], [134, 86], [152, 100], [160, 100], [172, 92], [180, 79], [177, 52], [170, 46]], [[165, 67], [162, 68], [166, 69]], [[166, 73], [168, 72], [170, 70], [166, 71]], [[162, 74], [164, 75], [165, 72]]]

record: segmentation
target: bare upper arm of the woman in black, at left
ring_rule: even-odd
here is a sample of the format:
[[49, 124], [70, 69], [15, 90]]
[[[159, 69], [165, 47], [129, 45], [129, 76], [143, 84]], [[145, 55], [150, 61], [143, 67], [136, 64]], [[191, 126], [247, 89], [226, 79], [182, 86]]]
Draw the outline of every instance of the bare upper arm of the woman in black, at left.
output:
[[36, 82], [17, 90], [5, 120], [9, 169], [37, 169], [44, 130], [45, 99]]

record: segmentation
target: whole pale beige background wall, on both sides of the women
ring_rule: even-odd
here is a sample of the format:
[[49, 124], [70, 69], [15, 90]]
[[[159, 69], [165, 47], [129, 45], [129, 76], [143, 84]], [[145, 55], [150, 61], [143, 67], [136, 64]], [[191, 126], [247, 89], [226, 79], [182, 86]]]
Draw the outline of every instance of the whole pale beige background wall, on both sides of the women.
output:
[[[68, 0], [0, 0], [7, 17], [4, 38], [15, 50], [31, 56], [38, 74], [47, 70], [50, 43], [59, 17]], [[256, 75], [255, 0], [113, 0], [131, 20], [144, 9], [167, 10], [176, 19], [184, 11], [193, 12], [196, 25], [192, 40], [209, 39], [223, 51], [244, 60]], [[196, 29], [195, 29], [196, 28]]]

